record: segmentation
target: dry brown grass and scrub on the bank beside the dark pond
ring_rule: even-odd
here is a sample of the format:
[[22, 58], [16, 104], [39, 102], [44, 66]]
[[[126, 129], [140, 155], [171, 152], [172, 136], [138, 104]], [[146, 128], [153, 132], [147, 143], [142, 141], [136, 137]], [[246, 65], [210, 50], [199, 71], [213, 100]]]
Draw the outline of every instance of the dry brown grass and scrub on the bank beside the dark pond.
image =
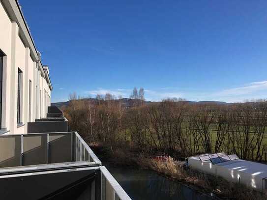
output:
[[229, 182], [221, 177], [215, 177], [185, 169], [177, 161], [170, 158], [164, 162], [157, 160], [144, 160], [144, 164], [154, 171], [171, 177], [179, 182], [192, 185], [197, 190], [213, 193], [217, 197], [234, 200], [266, 200], [266, 195], [253, 191], [245, 185]]

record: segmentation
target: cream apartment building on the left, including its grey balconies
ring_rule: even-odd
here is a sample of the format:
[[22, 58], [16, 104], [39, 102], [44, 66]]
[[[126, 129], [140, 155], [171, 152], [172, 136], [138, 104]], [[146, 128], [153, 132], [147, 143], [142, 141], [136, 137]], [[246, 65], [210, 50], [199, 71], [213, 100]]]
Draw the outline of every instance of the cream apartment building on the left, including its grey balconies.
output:
[[50, 106], [40, 56], [18, 0], [0, 0], [0, 199], [131, 200]]

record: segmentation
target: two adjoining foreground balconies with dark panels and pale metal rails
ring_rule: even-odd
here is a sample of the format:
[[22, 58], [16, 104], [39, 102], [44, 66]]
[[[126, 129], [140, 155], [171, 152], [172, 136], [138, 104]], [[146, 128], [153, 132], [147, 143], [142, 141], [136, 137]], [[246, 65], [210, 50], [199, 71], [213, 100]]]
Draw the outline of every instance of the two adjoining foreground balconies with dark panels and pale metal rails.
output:
[[0, 136], [1, 199], [130, 200], [77, 132]]

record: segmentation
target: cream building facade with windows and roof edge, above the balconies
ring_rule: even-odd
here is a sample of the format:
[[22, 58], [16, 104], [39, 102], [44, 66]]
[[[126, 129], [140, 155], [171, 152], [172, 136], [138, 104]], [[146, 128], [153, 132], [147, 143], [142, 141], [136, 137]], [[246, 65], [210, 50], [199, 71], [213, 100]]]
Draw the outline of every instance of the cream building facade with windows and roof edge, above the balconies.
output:
[[49, 69], [42, 65], [17, 0], [0, 0], [0, 134], [27, 133], [27, 122], [46, 117]]

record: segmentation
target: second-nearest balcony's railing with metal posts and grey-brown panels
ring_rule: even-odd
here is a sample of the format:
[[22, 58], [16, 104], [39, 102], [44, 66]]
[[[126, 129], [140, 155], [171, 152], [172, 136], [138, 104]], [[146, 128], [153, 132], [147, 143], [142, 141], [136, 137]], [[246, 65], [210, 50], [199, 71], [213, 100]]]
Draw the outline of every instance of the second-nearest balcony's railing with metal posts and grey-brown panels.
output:
[[0, 136], [0, 167], [88, 161], [101, 165], [76, 132]]

